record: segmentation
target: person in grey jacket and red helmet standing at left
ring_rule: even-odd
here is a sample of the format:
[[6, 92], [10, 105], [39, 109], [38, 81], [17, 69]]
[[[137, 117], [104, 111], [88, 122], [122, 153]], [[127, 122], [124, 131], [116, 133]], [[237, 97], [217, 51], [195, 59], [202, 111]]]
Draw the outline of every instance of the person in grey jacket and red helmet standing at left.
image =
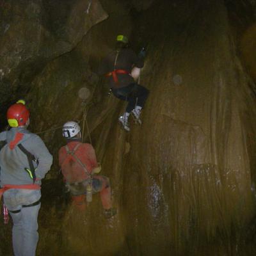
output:
[[29, 110], [24, 104], [10, 106], [7, 119], [12, 128], [0, 133], [0, 198], [13, 221], [14, 255], [35, 256], [40, 185], [52, 156], [40, 137], [27, 130]]

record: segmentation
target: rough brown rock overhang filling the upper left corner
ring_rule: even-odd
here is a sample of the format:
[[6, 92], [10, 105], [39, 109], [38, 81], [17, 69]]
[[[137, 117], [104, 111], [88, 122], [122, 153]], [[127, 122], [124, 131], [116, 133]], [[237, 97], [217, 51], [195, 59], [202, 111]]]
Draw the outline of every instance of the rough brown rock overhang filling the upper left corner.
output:
[[26, 97], [36, 74], [106, 19], [97, 0], [0, 2], [0, 104]]

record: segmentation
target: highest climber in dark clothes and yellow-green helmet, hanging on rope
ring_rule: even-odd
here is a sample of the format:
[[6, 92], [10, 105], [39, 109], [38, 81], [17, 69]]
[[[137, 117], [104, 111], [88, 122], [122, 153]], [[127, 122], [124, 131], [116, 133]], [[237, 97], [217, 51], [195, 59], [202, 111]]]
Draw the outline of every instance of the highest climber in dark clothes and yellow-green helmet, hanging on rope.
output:
[[[130, 131], [128, 118], [132, 114], [136, 123], [141, 124], [140, 114], [148, 97], [148, 89], [136, 83], [134, 73], [143, 67], [145, 49], [139, 56], [129, 47], [128, 38], [116, 37], [116, 49], [102, 61], [99, 74], [108, 77], [109, 88], [115, 97], [128, 101], [125, 113], [118, 118], [125, 131]], [[133, 77], [132, 77], [133, 76]]]

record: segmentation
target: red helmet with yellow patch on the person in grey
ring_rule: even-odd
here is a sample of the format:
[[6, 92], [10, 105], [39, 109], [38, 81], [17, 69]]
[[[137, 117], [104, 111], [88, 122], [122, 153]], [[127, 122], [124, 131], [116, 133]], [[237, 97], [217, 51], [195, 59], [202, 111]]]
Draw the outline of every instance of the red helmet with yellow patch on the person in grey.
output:
[[29, 111], [22, 103], [16, 103], [10, 106], [7, 111], [7, 119], [10, 127], [19, 127], [26, 125], [29, 118]]

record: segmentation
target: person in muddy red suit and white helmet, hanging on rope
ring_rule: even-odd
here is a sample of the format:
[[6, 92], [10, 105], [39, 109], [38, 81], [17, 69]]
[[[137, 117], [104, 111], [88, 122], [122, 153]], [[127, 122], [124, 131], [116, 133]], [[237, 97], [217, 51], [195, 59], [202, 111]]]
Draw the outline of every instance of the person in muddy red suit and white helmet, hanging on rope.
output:
[[97, 163], [92, 145], [81, 142], [81, 129], [77, 122], [65, 123], [62, 131], [67, 145], [59, 150], [59, 164], [72, 195], [72, 204], [84, 211], [86, 201], [92, 202], [92, 194], [100, 192], [104, 215], [111, 218], [116, 214], [116, 209], [112, 207], [109, 179], [97, 175], [101, 167]]

